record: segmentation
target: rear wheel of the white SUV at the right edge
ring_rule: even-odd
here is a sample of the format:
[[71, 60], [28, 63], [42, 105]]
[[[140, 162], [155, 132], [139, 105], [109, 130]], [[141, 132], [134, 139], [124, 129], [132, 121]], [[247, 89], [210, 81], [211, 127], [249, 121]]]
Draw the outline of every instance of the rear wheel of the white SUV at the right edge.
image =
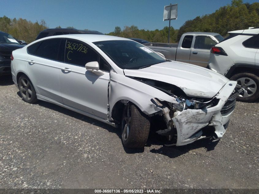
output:
[[259, 97], [259, 77], [252, 73], [235, 74], [230, 80], [237, 81], [237, 100], [252, 102]]

